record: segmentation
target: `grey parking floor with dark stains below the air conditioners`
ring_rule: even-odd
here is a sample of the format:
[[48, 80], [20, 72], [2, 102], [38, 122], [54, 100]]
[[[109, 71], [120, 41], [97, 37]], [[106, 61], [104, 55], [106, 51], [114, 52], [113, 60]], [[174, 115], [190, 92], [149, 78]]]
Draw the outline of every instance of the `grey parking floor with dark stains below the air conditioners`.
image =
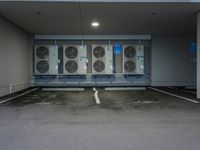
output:
[[199, 150], [200, 105], [152, 90], [43, 92], [0, 106], [2, 150]]

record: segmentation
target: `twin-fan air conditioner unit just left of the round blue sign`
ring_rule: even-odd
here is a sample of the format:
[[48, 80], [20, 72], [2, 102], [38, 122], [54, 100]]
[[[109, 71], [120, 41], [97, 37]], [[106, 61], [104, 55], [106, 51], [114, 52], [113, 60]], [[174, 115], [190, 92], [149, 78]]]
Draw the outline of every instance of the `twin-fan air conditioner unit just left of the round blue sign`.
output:
[[113, 47], [112, 45], [92, 45], [92, 73], [113, 73]]

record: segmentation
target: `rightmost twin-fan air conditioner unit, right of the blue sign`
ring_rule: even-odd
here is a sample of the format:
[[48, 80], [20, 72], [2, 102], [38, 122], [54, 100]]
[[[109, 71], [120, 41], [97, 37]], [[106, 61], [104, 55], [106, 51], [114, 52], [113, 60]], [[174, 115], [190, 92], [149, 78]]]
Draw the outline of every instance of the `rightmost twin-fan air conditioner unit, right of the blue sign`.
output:
[[123, 73], [144, 74], [144, 45], [123, 45]]

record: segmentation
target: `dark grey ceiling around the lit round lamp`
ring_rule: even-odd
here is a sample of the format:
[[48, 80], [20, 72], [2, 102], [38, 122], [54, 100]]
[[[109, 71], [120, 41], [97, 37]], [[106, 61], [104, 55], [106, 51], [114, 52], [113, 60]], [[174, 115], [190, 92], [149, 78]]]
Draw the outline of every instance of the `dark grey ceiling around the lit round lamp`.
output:
[[0, 2], [0, 14], [32, 34], [195, 34], [199, 10], [200, 3]]

